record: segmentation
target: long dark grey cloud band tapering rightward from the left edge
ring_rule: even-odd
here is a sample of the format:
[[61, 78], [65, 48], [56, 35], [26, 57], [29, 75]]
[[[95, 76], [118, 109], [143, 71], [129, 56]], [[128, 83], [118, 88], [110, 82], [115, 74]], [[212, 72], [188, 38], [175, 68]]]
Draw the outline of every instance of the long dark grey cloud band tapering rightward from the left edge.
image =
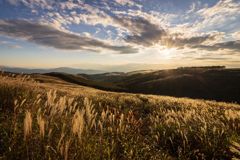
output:
[[0, 36], [23, 39], [29, 43], [59, 50], [81, 51], [103, 48], [121, 54], [138, 53], [138, 49], [132, 46], [115, 46], [100, 39], [63, 31], [40, 21], [0, 20]]

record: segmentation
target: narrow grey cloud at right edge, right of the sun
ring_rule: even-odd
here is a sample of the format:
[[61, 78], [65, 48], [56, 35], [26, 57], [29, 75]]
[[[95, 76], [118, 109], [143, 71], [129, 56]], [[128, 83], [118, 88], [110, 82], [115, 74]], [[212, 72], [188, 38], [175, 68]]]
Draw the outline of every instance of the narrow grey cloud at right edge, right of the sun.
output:
[[190, 48], [206, 51], [231, 50], [240, 53], [240, 40], [216, 43], [213, 45], [195, 45], [191, 46]]

